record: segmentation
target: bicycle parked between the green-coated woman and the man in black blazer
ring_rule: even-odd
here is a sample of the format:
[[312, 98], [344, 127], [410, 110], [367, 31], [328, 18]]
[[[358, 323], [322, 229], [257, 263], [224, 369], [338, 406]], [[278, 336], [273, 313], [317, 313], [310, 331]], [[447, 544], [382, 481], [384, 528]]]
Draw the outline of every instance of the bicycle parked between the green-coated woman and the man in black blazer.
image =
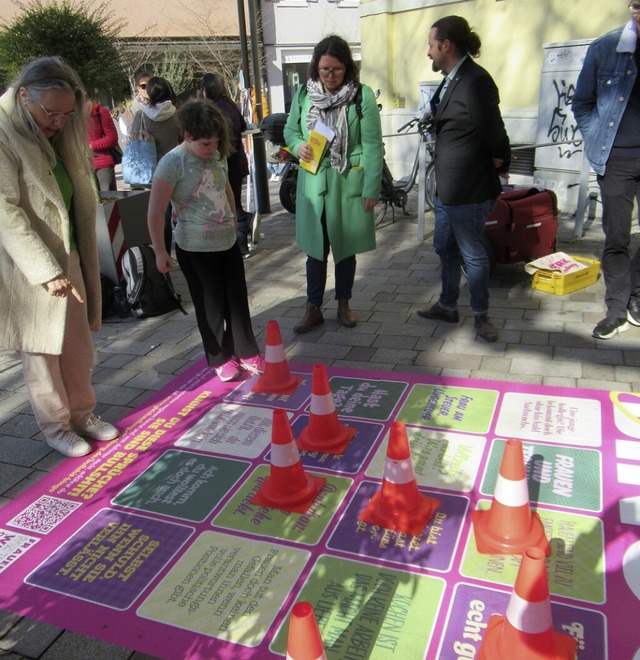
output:
[[435, 177], [435, 163], [433, 160], [434, 149], [433, 141], [431, 140], [431, 128], [433, 126], [433, 116], [430, 112], [424, 114], [422, 117], [413, 117], [406, 124], [401, 126], [396, 132], [409, 134], [408, 131], [415, 125], [418, 126], [418, 135], [420, 140], [416, 149], [416, 155], [413, 159], [411, 172], [408, 176], [395, 181], [391, 174], [391, 170], [387, 165], [386, 160], [382, 165], [382, 182], [380, 186], [380, 206], [376, 211], [376, 227], [378, 227], [387, 215], [389, 207], [391, 207], [392, 219], [395, 222], [395, 209], [401, 208], [405, 215], [409, 215], [406, 211], [406, 205], [409, 192], [413, 189], [418, 180], [418, 171], [420, 169], [420, 150], [426, 149], [429, 155], [429, 164], [425, 170], [425, 204], [426, 210], [431, 210], [435, 205], [436, 198], [436, 177]]

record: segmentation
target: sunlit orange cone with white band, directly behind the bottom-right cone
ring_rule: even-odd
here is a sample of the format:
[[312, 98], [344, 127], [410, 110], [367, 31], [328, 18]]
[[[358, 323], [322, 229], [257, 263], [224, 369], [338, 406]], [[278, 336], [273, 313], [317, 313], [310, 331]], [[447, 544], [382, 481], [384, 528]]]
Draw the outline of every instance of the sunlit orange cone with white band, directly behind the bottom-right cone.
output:
[[471, 513], [478, 552], [484, 555], [521, 554], [525, 548], [551, 552], [537, 513], [531, 513], [529, 489], [520, 440], [507, 440], [500, 473], [487, 511]]

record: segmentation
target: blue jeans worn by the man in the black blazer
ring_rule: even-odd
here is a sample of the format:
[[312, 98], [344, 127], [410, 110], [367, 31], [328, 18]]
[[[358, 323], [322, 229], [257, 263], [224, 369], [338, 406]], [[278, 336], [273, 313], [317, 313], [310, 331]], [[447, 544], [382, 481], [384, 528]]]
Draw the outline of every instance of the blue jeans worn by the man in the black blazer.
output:
[[443, 204], [436, 198], [433, 246], [442, 269], [439, 303], [443, 309], [457, 309], [463, 262], [471, 311], [475, 315], [489, 309], [489, 257], [484, 246], [484, 223], [494, 204], [495, 199], [476, 204]]

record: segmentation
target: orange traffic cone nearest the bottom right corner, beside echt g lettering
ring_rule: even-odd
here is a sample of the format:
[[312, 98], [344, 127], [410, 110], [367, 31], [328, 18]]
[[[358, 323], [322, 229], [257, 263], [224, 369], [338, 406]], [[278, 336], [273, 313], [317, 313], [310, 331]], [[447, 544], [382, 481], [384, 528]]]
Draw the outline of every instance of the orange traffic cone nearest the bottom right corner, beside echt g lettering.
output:
[[574, 660], [576, 640], [557, 633], [551, 620], [545, 555], [527, 548], [507, 607], [494, 614], [482, 639], [478, 660]]

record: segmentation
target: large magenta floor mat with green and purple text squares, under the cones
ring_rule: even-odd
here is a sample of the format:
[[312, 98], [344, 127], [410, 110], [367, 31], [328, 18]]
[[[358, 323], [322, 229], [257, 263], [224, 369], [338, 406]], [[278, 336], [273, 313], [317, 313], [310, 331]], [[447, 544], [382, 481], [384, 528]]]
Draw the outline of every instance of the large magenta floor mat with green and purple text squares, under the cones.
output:
[[[520, 557], [481, 555], [504, 443], [523, 442], [552, 552], [554, 627], [578, 658], [640, 658], [640, 397], [401, 373], [328, 370], [342, 455], [301, 451], [326, 484], [305, 513], [251, 504], [270, 472], [274, 408], [297, 438], [311, 367], [290, 395], [221, 383], [199, 363], [0, 510], [0, 608], [163, 658], [286, 653], [289, 612], [315, 608], [329, 658], [473, 658], [504, 614]], [[359, 520], [407, 425], [419, 536]]]

